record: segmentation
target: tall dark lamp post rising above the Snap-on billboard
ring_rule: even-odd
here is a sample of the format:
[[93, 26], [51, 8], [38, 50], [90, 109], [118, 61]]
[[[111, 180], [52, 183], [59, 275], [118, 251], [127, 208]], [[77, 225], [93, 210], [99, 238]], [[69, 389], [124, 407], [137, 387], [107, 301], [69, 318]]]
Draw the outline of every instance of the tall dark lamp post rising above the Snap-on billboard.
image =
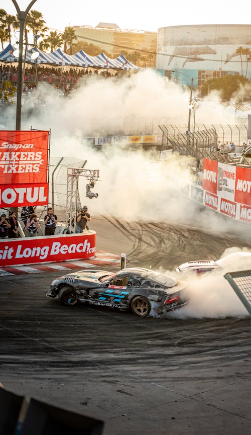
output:
[[12, 0], [17, 10], [19, 19], [19, 57], [18, 57], [18, 90], [17, 90], [17, 112], [16, 112], [16, 130], [21, 130], [21, 107], [22, 107], [22, 91], [23, 91], [23, 44], [24, 44], [24, 29], [27, 15], [37, 0], [32, 0], [25, 11], [21, 11], [16, 0]]

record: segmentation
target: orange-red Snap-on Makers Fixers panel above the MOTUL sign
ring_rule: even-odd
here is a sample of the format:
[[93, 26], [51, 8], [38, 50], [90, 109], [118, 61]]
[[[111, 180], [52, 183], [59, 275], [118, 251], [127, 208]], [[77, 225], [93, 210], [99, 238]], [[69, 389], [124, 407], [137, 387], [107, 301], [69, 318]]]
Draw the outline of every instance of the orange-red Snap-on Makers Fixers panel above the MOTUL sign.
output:
[[47, 182], [48, 131], [0, 131], [0, 185]]

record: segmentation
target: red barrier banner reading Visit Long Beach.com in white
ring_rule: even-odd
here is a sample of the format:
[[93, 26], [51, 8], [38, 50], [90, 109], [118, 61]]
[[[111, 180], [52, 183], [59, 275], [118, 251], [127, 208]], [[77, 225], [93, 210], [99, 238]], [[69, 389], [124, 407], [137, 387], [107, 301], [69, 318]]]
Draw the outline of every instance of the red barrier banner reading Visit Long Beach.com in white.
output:
[[96, 233], [0, 240], [0, 267], [62, 262], [95, 256]]

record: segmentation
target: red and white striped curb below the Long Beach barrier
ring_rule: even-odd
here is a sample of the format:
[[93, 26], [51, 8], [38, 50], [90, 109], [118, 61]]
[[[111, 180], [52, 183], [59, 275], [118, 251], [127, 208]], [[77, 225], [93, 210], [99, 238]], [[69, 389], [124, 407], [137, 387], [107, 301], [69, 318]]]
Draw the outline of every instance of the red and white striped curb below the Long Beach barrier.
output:
[[118, 266], [120, 265], [120, 256], [106, 251], [96, 251], [94, 258], [87, 260], [75, 260], [70, 262], [49, 263], [29, 266], [15, 266], [0, 268], [0, 277], [9, 275], [22, 274], [41, 274], [43, 272], [67, 272], [70, 273], [73, 269], [78, 268], [100, 268], [102, 266]]

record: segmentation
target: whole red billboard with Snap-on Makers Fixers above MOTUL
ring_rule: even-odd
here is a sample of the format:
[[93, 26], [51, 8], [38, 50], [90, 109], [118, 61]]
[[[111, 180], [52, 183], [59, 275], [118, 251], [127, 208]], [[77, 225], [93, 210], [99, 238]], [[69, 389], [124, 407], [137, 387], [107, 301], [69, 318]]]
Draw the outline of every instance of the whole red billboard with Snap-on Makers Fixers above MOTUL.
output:
[[1, 207], [48, 204], [48, 138], [48, 131], [0, 131]]

